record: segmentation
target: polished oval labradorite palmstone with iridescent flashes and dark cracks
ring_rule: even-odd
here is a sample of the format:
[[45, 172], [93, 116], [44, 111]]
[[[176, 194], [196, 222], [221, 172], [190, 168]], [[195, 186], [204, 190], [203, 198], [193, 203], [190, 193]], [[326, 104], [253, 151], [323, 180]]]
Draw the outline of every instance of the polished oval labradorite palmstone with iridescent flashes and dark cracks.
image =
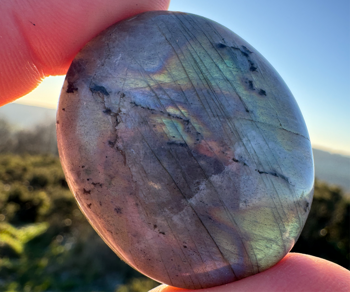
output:
[[198, 15], [142, 13], [85, 45], [57, 136], [94, 229], [161, 283], [199, 289], [264, 271], [310, 209], [313, 157], [292, 93], [251, 45]]

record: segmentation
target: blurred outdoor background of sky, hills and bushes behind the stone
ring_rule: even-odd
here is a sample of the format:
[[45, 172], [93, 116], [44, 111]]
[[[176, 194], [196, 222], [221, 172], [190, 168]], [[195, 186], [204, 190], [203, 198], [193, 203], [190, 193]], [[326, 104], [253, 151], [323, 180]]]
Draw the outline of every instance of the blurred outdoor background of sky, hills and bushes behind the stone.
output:
[[[275, 67], [308, 126], [310, 215], [292, 252], [350, 269], [349, 1], [172, 0], [236, 32]], [[59, 163], [64, 76], [0, 107], [0, 291], [146, 292], [159, 283], [122, 262], [80, 212]]]

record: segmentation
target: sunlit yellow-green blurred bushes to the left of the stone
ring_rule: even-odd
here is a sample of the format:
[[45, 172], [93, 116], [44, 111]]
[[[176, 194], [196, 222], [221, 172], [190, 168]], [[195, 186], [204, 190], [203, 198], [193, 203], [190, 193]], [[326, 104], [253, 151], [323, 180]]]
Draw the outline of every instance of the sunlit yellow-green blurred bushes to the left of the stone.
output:
[[0, 291], [113, 292], [134, 277], [146, 279], [92, 229], [57, 156], [0, 155]]

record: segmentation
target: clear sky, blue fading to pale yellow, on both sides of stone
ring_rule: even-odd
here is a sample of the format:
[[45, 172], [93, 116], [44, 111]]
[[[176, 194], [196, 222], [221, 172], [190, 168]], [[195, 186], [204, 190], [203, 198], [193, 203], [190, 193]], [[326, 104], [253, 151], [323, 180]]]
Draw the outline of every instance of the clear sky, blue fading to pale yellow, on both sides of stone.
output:
[[[350, 154], [350, 1], [172, 0], [169, 10], [208, 17], [244, 38], [293, 92], [312, 144]], [[46, 78], [18, 102], [55, 107], [62, 82]]]

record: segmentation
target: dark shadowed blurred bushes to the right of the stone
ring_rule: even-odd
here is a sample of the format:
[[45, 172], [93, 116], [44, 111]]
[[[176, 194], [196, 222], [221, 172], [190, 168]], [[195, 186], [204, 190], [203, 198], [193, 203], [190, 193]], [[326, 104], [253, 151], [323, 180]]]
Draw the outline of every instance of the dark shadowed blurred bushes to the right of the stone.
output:
[[315, 182], [304, 229], [291, 250], [332, 261], [350, 270], [350, 202], [338, 187]]

